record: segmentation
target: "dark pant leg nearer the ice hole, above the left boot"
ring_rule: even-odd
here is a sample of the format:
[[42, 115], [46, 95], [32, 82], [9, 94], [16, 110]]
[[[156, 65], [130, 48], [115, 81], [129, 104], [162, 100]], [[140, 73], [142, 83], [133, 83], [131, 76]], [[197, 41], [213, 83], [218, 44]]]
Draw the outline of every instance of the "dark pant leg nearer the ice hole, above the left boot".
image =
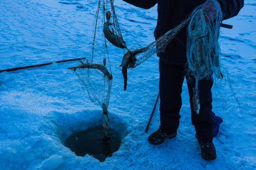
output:
[[182, 106], [183, 65], [165, 64], [159, 60], [160, 128], [168, 135], [179, 127]]

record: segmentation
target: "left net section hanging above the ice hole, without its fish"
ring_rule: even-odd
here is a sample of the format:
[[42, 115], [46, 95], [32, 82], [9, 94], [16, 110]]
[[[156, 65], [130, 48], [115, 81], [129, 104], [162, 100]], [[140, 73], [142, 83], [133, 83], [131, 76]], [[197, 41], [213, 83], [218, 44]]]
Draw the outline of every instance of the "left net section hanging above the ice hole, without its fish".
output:
[[[90, 56], [81, 60], [81, 63], [100, 63], [104, 65], [111, 73], [110, 59], [107, 49], [107, 41], [103, 33], [104, 23], [106, 22], [106, 13], [110, 11], [111, 17], [109, 25], [110, 30], [122, 38], [117, 16], [114, 9], [113, 0], [99, 0], [94, 17], [92, 29], [92, 42]], [[112, 79], [104, 75], [100, 70], [91, 68], [77, 68], [75, 74], [78, 76], [82, 89], [86, 90], [92, 102], [98, 102], [103, 109], [102, 104], [109, 106]]]

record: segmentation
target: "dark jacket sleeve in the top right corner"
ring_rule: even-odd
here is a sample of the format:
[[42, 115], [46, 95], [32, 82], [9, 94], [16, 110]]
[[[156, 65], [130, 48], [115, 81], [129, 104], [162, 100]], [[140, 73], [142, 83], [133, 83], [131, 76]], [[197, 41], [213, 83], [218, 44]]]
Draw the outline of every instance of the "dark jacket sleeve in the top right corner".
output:
[[223, 12], [223, 20], [235, 17], [244, 6], [244, 0], [218, 0]]

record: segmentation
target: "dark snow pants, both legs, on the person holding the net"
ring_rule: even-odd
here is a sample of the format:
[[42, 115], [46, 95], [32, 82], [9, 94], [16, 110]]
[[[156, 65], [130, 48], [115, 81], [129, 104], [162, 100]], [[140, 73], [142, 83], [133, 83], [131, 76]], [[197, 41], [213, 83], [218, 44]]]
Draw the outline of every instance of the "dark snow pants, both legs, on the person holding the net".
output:
[[174, 134], [179, 127], [179, 112], [182, 106], [182, 85], [186, 76], [190, 96], [191, 119], [195, 127], [196, 136], [213, 137], [214, 118], [211, 114], [212, 80], [203, 79], [199, 81], [200, 112], [196, 114], [193, 110], [192, 96], [195, 86], [193, 77], [185, 75], [183, 65], [170, 65], [159, 59], [159, 93], [160, 93], [160, 128], [168, 135]]

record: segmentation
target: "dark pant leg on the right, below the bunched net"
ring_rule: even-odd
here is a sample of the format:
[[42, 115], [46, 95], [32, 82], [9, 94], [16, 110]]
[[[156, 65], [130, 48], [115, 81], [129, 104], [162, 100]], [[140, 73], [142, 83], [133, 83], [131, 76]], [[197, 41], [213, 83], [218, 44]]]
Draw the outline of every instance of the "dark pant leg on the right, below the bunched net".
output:
[[190, 96], [190, 107], [191, 107], [191, 119], [192, 125], [195, 126], [196, 136], [197, 137], [213, 137], [213, 125], [214, 118], [211, 113], [212, 109], [212, 96], [211, 96], [211, 87], [213, 81], [211, 79], [202, 79], [198, 82], [198, 91], [199, 91], [199, 101], [200, 101], [200, 111], [199, 114], [196, 114], [193, 110], [192, 96], [193, 90], [195, 87], [195, 81], [193, 78], [186, 76], [187, 85], [189, 89]]

